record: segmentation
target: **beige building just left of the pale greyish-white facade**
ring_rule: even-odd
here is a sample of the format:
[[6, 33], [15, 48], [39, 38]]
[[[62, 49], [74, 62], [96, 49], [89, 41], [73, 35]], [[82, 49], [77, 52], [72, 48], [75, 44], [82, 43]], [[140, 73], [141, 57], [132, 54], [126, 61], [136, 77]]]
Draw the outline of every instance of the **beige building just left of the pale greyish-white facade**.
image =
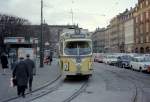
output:
[[111, 52], [125, 52], [124, 17], [127, 11], [117, 15], [110, 21], [110, 50]]

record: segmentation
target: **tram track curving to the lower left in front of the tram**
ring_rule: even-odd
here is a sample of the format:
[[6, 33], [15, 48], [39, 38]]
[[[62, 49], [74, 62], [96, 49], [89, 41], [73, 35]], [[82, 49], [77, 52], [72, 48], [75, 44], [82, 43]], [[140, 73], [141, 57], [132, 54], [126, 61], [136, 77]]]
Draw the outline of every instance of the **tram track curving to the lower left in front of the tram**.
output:
[[[78, 79], [79, 80], [79, 79]], [[75, 84], [74, 86], [77, 85], [77, 87], [73, 87], [72, 91], [70, 94], [67, 92], [64, 94], [66, 95], [65, 98], [62, 98], [60, 102], [71, 102], [73, 99], [75, 99], [78, 95], [80, 95], [85, 89], [88, 87], [88, 82], [89, 80], [82, 80], [81, 81], [67, 81], [65, 82], [62, 77], [57, 77], [53, 82], [47, 84], [46, 86], [43, 86], [42, 88], [32, 92], [32, 93], [27, 93], [26, 98], [23, 99], [23, 102], [42, 102], [39, 101], [40, 99], [43, 99], [44, 96], [48, 96], [50, 99], [53, 98], [53, 92], [59, 94], [59, 91], [62, 89], [65, 89], [66, 86], [71, 86], [72, 84]], [[57, 92], [58, 91], [58, 92]], [[57, 96], [58, 97], [58, 96]], [[5, 100], [2, 102], [20, 102], [22, 101], [22, 98], [16, 97], [13, 99]], [[50, 100], [48, 100], [50, 101]]]

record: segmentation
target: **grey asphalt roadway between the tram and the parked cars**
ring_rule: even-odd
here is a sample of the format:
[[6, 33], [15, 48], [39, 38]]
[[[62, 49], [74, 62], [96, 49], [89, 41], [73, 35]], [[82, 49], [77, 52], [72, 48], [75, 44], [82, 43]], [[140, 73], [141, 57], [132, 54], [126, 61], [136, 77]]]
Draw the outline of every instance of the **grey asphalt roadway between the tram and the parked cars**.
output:
[[72, 102], [150, 102], [150, 74], [95, 63], [86, 91]]

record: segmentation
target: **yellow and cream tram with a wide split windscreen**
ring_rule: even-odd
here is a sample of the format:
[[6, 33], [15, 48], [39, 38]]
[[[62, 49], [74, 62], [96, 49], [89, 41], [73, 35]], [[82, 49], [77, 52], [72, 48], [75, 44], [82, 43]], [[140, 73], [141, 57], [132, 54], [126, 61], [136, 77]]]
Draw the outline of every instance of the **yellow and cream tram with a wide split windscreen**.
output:
[[62, 75], [92, 75], [92, 40], [89, 33], [74, 30], [62, 33], [59, 56]]

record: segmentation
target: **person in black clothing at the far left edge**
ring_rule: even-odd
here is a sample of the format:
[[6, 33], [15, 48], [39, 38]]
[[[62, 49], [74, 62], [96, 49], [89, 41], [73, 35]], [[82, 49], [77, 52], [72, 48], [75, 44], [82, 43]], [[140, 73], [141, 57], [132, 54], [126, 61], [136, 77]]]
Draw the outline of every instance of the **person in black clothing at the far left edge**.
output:
[[1, 65], [2, 65], [2, 69], [3, 69], [3, 75], [5, 75], [6, 68], [8, 68], [8, 58], [5, 53], [2, 53], [0, 60], [1, 60]]

